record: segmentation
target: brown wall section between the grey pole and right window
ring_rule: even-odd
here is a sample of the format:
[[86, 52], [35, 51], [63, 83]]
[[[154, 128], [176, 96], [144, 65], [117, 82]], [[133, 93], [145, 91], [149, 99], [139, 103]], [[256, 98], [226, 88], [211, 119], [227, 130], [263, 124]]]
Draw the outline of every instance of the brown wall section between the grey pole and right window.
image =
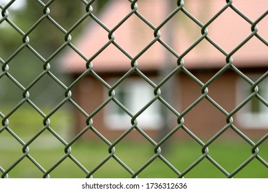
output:
[[[197, 71], [193, 73], [201, 82], [207, 82], [215, 71]], [[217, 104], [230, 112], [236, 104], [236, 75], [225, 73], [208, 85], [208, 96]], [[202, 95], [202, 87], [190, 80], [186, 75], [181, 75], [181, 111], [186, 110]], [[218, 108], [202, 99], [184, 116], [185, 125], [194, 134], [201, 137], [211, 137], [226, 125], [226, 117]]]

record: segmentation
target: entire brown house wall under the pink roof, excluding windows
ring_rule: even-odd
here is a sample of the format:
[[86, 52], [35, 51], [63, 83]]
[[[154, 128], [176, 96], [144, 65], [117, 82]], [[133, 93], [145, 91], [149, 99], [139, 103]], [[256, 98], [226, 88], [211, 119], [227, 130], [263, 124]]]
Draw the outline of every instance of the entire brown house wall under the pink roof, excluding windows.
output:
[[[203, 71], [191, 71], [192, 74], [197, 77], [201, 82], [205, 83], [217, 72], [216, 70], [203, 70]], [[156, 75], [150, 75], [150, 77], [155, 77]], [[102, 75], [102, 78], [109, 81], [109, 75]], [[116, 77], [116, 75], [115, 75]], [[119, 77], [119, 76], [118, 76]], [[223, 73], [220, 77], [216, 78], [212, 84], [208, 85], [208, 96], [216, 101], [219, 106], [221, 106], [226, 112], [231, 112], [236, 106], [236, 82], [238, 76], [230, 71]], [[184, 113], [187, 108], [194, 103], [202, 95], [202, 87], [194, 82], [190, 77], [184, 73], [179, 73], [177, 80], [175, 81], [174, 88], [174, 99], [172, 101], [173, 107], [180, 113]], [[74, 101], [77, 102], [89, 115], [91, 115], [98, 106], [103, 104], [104, 99], [108, 98], [107, 93], [104, 93], [104, 86], [98, 82], [94, 77], [88, 76], [74, 87], [72, 91], [74, 95]], [[105, 96], [107, 95], [107, 96]], [[226, 125], [226, 116], [218, 108], [208, 101], [208, 99], [202, 99], [196, 106], [187, 110], [186, 114], [183, 116], [184, 125], [188, 130], [190, 130], [199, 138], [208, 139], [214, 136], [217, 132], [223, 129]], [[78, 134], [82, 129], [84, 129], [86, 124], [86, 117], [80, 112], [75, 110], [76, 114], [76, 131]], [[245, 129], [242, 125], [236, 121], [236, 115], [234, 115], [234, 125], [239, 128], [241, 132], [247, 134], [247, 136], [260, 137], [267, 133], [267, 129]], [[177, 125], [177, 118], [172, 119], [171, 127], [175, 128]], [[130, 125], [131, 126], [131, 125]], [[109, 138], [115, 139], [124, 133], [124, 130], [111, 130], [107, 127], [107, 123], [104, 123], [104, 109], [100, 110], [96, 115], [93, 115], [93, 128], [98, 130], [100, 134]], [[144, 130], [153, 139], [161, 138], [159, 131], [155, 130]], [[223, 137], [237, 137], [237, 134], [232, 130], [228, 129], [221, 138]], [[96, 134], [93, 134], [91, 130], [88, 130], [84, 138], [98, 139]], [[182, 129], [179, 129], [174, 137], [187, 138], [188, 134]], [[126, 138], [129, 139], [143, 139], [143, 136], [137, 131], [131, 132]]]

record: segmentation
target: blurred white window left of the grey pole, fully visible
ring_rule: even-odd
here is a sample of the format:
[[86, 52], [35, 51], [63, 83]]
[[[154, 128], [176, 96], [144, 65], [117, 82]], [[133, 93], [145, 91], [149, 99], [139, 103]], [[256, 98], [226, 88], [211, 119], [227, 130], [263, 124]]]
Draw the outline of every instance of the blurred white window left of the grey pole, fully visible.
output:
[[[113, 84], [115, 80], [111, 80]], [[104, 91], [107, 94], [107, 89]], [[107, 95], [105, 95], [107, 98]], [[128, 78], [115, 88], [115, 98], [120, 101], [133, 115], [144, 108], [154, 95], [154, 88], [144, 80]], [[126, 130], [131, 128], [131, 117], [111, 101], [104, 108], [104, 121], [114, 130]], [[144, 130], [156, 130], [161, 128], [160, 103], [156, 100], [141, 115], [137, 117], [138, 126]]]

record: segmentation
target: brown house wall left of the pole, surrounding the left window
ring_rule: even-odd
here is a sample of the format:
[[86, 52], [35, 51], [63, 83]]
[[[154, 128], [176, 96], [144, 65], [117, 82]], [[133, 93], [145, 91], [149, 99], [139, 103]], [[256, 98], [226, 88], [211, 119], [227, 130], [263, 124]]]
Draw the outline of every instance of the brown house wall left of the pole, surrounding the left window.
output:
[[[120, 78], [120, 76], [117, 75], [113, 76], [113, 78], [114, 77]], [[107, 82], [111, 80], [110, 75], [102, 75], [102, 78]], [[89, 75], [74, 87], [72, 95], [74, 95], [74, 101], [76, 101], [88, 115], [92, 115], [94, 111], [103, 104], [104, 100], [109, 98], [108, 91], [108, 88], [105, 88], [95, 77]], [[74, 109], [74, 114], [76, 115], [76, 128], [74, 134], [78, 134], [87, 127], [87, 118], [85, 115], [82, 115], [81, 112], [78, 112], [77, 109]], [[96, 115], [93, 115], [93, 128], [107, 138], [118, 138], [118, 136], [124, 133], [124, 130], [111, 130], [107, 126], [107, 122], [105, 123], [104, 121], [104, 115], [104, 108], [98, 111]], [[152, 130], [146, 131], [146, 134], [149, 134], [151, 137], [158, 135], [157, 132]], [[98, 139], [98, 136], [91, 130], [88, 130], [82, 137]], [[137, 131], [131, 132], [127, 137], [131, 139], [143, 138]]]

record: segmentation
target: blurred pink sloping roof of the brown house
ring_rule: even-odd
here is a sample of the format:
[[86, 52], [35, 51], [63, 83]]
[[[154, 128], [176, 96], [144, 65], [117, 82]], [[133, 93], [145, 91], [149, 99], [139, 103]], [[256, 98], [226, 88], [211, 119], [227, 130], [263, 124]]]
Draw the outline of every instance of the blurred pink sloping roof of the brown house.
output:
[[[167, 2], [166, 0], [137, 1], [137, 11], [157, 27], [170, 14]], [[204, 24], [219, 12], [224, 5], [226, 5], [225, 1], [192, 0], [185, 1], [184, 8]], [[253, 36], [232, 56], [234, 65], [236, 67], [268, 68], [268, 1], [258, 0], [254, 3], [245, 3], [245, 1], [236, 0], [232, 5], [252, 21], [256, 21], [266, 12], [265, 18], [258, 23], [258, 34], [263, 37], [266, 45], [256, 36]], [[176, 6], [172, 5], [172, 10], [175, 8]], [[113, 29], [129, 12], [131, 12], [131, 3], [129, 1], [111, 1], [102, 14], [98, 16], [98, 19], [109, 29]], [[252, 25], [236, 14], [234, 10], [227, 8], [208, 25], [208, 37], [227, 53], [230, 53], [252, 33], [251, 27]], [[201, 38], [201, 27], [181, 11], [172, 18], [172, 22], [161, 27], [160, 32], [161, 40], [170, 45], [179, 55]], [[91, 23], [85, 28], [80, 38], [72, 43], [89, 59], [109, 42], [108, 34], [105, 29], [91, 19]], [[113, 34], [115, 34], [115, 42], [129, 53], [132, 58], [135, 58], [155, 38], [154, 30], [135, 14], [118, 27]], [[168, 36], [171, 38], [168, 38]], [[171, 43], [168, 43], [168, 39], [171, 40]], [[208, 40], [203, 39], [201, 43], [183, 57], [183, 60], [187, 69], [198, 69], [223, 67], [225, 58], [221, 51], [208, 43]], [[139, 69], [157, 70], [159, 67], [164, 67], [167, 60], [174, 63], [174, 65], [177, 63], [177, 58], [157, 41], [142, 56], [137, 58], [137, 63]], [[86, 61], [72, 49], [68, 49], [65, 52], [60, 63], [63, 71], [67, 73], [81, 73], [86, 69]], [[110, 44], [96, 56], [92, 63], [94, 71], [126, 71], [131, 68], [131, 59], [113, 44]]]

